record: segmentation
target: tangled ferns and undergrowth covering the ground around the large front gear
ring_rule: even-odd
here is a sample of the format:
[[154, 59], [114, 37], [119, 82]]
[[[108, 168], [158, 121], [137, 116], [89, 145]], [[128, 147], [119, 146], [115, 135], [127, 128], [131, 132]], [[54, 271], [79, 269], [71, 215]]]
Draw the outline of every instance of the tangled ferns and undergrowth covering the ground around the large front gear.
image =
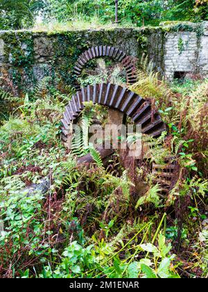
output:
[[[207, 277], [208, 81], [168, 85], [142, 63], [131, 89], [154, 97], [168, 133], [144, 137], [150, 158], [137, 163], [64, 147], [71, 88], [47, 79], [24, 97], [0, 92], [0, 277]], [[86, 108], [83, 136], [107, 114]], [[76, 163], [89, 152], [94, 163]], [[165, 156], [178, 171], [162, 195], [151, 170]]]

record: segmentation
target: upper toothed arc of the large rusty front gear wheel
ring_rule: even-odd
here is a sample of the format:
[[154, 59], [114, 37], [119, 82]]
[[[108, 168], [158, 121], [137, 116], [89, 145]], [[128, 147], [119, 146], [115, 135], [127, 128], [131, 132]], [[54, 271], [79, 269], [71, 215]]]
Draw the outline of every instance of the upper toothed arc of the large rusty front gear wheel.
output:
[[84, 103], [90, 101], [125, 113], [133, 122], [141, 125], [141, 133], [157, 137], [166, 131], [166, 124], [159, 113], [152, 109], [150, 102], [128, 88], [111, 83], [101, 83], [82, 88], [80, 92], [73, 95], [66, 106], [62, 119], [62, 140], [65, 142], [70, 135], [69, 125], [83, 110]]

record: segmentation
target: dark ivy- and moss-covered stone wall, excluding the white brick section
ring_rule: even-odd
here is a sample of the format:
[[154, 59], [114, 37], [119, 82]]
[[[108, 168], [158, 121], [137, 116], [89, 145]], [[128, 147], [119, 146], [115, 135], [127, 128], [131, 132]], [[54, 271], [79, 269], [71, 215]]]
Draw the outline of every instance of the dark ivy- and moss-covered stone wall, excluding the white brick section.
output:
[[[89, 29], [76, 31], [1, 31], [0, 86], [17, 92], [31, 90], [44, 76], [73, 85], [73, 65], [89, 47], [106, 44], [141, 58], [147, 54], [155, 69], [166, 72], [166, 42], [171, 33], [195, 33], [198, 51], [202, 24], [166, 23], [158, 27]], [[204, 41], [205, 42], [205, 41]], [[199, 52], [198, 52], [199, 54]]]

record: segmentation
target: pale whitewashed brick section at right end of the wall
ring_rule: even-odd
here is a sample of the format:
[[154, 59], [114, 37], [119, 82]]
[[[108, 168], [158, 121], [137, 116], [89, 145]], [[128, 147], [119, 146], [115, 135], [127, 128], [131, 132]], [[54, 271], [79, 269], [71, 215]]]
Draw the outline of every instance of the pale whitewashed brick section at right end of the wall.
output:
[[194, 28], [195, 31], [166, 34], [164, 44], [166, 79], [173, 79], [174, 72], [195, 73], [202, 76], [208, 73], [208, 22]]

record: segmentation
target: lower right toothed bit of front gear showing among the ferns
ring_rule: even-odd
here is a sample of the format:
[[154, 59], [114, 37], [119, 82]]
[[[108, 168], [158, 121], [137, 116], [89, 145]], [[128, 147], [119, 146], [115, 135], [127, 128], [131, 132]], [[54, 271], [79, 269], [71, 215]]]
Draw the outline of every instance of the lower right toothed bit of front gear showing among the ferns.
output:
[[168, 193], [175, 185], [179, 165], [175, 156], [167, 156], [164, 164], [153, 163], [153, 181], [159, 184], [164, 194]]

